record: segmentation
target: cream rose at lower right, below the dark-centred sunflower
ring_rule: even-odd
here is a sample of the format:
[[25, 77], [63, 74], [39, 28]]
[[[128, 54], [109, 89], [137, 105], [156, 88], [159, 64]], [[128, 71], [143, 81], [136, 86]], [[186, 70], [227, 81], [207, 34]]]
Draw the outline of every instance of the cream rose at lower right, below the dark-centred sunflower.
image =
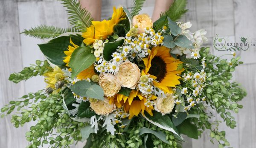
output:
[[175, 100], [172, 94], [167, 94], [165, 98], [157, 97], [157, 99], [154, 100], [154, 109], [157, 112], [162, 113], [162, 115], [169, 114], [172, 112], [172, 109], [174, 108], [174, 102]]

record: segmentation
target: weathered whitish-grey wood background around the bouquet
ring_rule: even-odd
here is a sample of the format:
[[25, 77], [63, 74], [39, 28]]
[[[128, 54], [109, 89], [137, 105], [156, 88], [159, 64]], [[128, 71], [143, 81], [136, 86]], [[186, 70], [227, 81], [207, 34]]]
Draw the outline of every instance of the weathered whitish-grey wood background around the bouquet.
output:
[[[256, 44], [256, 1], [255, 0], [188, 0], [189, 12], [182, 21], [191, 21], [191, 31], [207, 29], [208, 46], [212, 47], [215, 34], [225, 36], [230, 41], [239, 42], [241, 37], [250, 38]], [[131, 7], [131, 0], [103, 0], [102, 19], [112, 14], [112, 6], [123, 5]], [[154, 0], [148, 0], [142, 13], [152, 14]], [[23, 29], [46, 24], [68, 27], [67, 13], [56, 0], [0, 0], [0, 106], [28, 92], [43, 89], [42, 77], [31, 78], [26, 82], [14, 84], [8, 81], [10, 73], [22, 70], [34, 63], [36, 59], [43, 60], [37, 44], [44, 41], [19, 34]], [[251, 40], [254, 39], [254, 40]], [[250, 43], [249, 42], [249, 43]], [[214, 54], [223, 54], [216, 52]], [[241, 101], [244, 109], [235, 114], [238, 121], [235, 129], [229, 129], [224, 124], [221, 130], [226, 130], [227, 139], [234, 148], [256, 148], [256, 47], [250, 47], [246, 52], [239, 52], [244, 64], [234, 73], [234, 80], [240, 82], [248, 92]], [[216, 115], [215, 119], [220, 117]], [[0, 148], [25, 148], [28, 142], [25, 132], [32, 125], [14, 128], [10, 116], [0, 120]], [[218, 148], [209, 142], [209, 131], [199, 140], [187, 140], [184, 148]], [[81, 145], [74, 146], [81, 148]]]

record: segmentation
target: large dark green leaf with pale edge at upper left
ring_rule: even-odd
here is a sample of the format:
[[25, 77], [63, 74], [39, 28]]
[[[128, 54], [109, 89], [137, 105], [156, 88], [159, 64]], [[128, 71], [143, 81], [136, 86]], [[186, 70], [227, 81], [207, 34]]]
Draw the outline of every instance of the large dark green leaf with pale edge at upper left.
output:
[[60, 36], [45, 44], [39, 44], [39, 48], [44, 54], [44, 56], [52, 63], [59, 67], [65, 68], [66, 63], [64, 63], [64, 51], [67, 50], [67, 47], [73, 46], [70, 44], [70, 38], [76, 45], [80, 45], [83, 41], [82, 37], [79, 36]]

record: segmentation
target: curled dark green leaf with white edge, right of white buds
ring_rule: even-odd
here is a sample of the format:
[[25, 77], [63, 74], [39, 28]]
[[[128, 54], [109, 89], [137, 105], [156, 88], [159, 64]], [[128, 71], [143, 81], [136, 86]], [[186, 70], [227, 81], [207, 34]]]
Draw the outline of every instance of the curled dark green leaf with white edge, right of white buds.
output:
[[124, 37], [119, 37], [115, 42], [105, 43], [103, 50], [103, 58], [106, 61], [111, 60], [113, 57], [111, 56], [114, 53], [118, 46], [122, 46], [124, 43]]

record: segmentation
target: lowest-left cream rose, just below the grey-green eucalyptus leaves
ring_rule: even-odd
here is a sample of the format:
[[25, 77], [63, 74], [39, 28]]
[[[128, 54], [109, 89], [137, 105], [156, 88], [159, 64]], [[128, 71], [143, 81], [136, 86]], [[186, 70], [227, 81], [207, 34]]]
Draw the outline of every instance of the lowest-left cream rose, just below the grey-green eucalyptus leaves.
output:
[[105, 115], [110, 114], [116, 108], [114, 103], [109, 103], [109, 99], [105, 98], [103, 101], [99, 100], [97, 102], [91, 102], [90, 107], [94, 110], [96, 114]]

